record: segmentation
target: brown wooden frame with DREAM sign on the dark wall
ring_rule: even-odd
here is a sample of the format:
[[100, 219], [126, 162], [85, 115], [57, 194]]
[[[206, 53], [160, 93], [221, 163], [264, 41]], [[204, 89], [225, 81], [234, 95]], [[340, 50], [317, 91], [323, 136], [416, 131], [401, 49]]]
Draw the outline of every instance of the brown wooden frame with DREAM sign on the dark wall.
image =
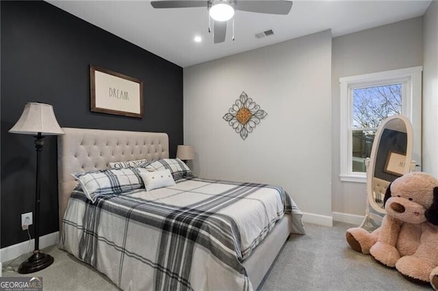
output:
[[90, 65], [90, 110], [143, 117], [143, 81]]

